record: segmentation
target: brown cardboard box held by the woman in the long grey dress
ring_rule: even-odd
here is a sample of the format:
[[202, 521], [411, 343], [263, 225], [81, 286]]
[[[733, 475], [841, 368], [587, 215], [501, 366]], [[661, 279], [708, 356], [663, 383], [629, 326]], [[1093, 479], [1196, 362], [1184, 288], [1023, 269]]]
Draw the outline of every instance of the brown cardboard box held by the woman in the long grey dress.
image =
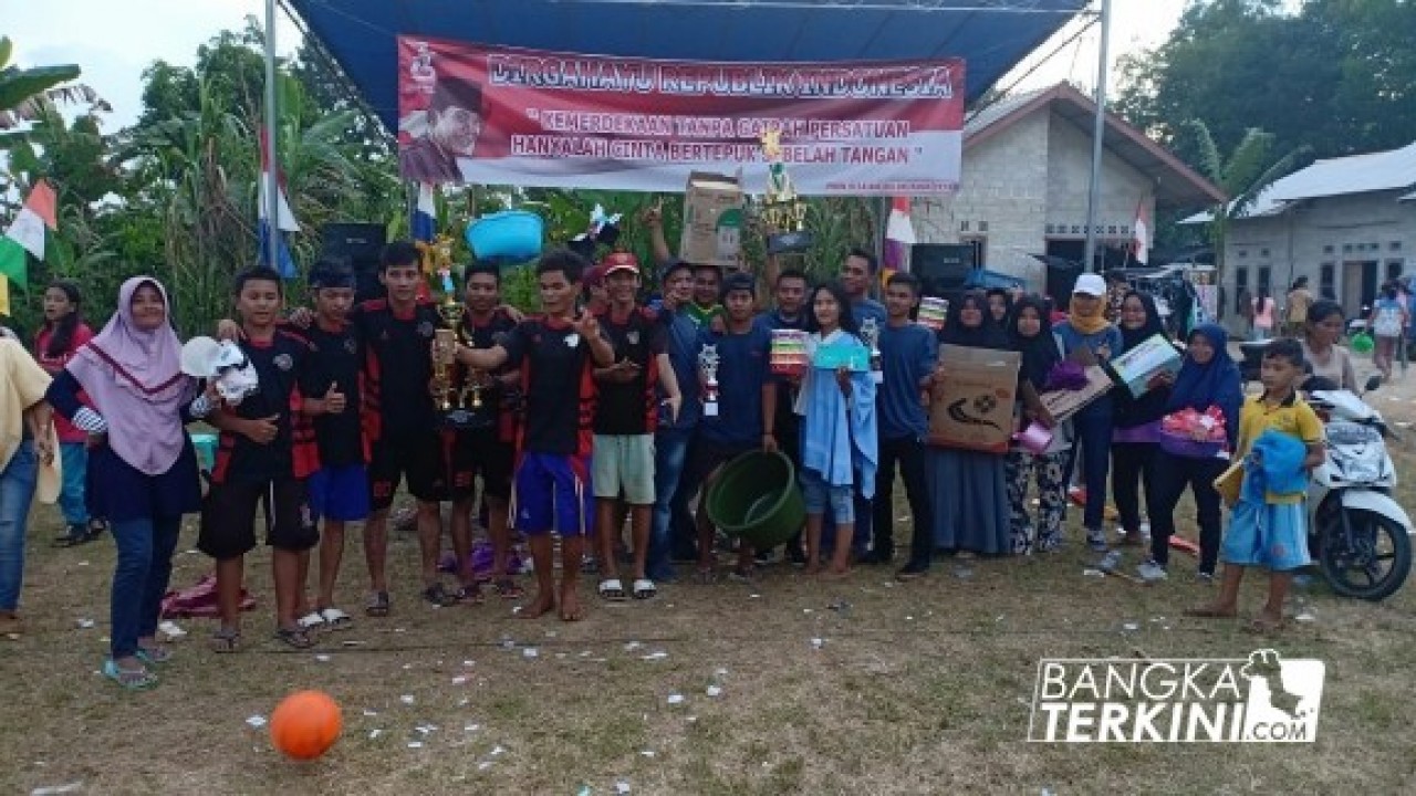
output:
[[1007, 453], [1022, 354], [940, 346], [942, 382], [932, 391], [929, 443]]

